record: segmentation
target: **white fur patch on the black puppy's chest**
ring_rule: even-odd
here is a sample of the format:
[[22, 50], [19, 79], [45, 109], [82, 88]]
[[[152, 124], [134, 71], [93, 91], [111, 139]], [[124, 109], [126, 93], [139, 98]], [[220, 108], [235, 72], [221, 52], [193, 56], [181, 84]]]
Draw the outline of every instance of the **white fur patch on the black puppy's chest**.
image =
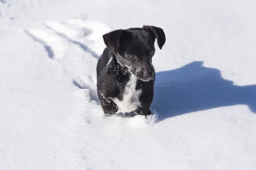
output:
[[129, 113], [135, 111], [140, 104], [140, 95], [142, 90], [136, 90], [137, 77], [134, 74], [131, 74], [130, 80], [125, 86], [125, 91], [122, 96], [122, 100], [117, 98], [113, 99], [113, 102], [116, 103], [122, 113]]

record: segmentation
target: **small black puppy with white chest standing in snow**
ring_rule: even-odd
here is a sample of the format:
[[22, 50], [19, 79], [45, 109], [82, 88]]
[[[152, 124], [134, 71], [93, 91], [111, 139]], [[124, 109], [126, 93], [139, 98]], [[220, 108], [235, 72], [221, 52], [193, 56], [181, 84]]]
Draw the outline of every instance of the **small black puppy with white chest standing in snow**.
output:
[[97, 64], [97, 91], [104, 113], [151, 114], [155, 71], [154, 42], [162, 49], [166, 37], [162, 28], [143, 26], [103, 35], [107, 48]]

